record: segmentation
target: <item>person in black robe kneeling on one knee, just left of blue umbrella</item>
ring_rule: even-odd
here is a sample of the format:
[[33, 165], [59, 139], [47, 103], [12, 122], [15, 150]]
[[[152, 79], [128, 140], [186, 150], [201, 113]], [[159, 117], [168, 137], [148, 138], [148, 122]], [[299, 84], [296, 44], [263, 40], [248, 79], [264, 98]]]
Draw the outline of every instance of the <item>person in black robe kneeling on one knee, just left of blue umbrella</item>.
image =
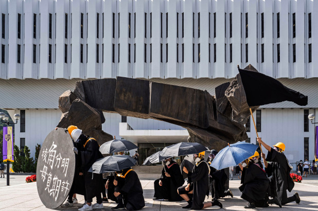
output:
[[[183, 167], [183, 171], [188, 174], [188, 184], [179, 187], [178, 193], [188, 202], [188, 205], [182, 208], [204, 209], [210, 206], [219, 206], [222, 208], [222, 204], [218, 200], [203, 203], [205, 196], [209, 195], [208, 174], [210, 168], [202, 155], [204, 154], [193, 155], [196, 165], [193, 167], [192, 172]], [[190, 194], [192, 194], [192, 198], [189, 197]]]

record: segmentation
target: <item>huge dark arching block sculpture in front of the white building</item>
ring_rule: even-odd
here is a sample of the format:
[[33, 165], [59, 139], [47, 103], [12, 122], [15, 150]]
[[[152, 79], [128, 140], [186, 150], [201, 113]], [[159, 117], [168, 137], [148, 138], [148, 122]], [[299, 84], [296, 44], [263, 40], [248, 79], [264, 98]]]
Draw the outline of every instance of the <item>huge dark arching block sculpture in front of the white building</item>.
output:
[[[246, 68], [254, 69], [251, 65]], [[244, 124], [250, 107], [239, 74], [231, 83], [217, 86], [216, 96], [189, 87], [123, 77], [77, 81], [74, 92], [68, 90], [60, 96], [59, 108], [63, 114], [57, 127], [76, 125], [100, 145], [113, 139], [101, 130], [105, 121], [102, 112], [170, 122], [188, 130], [189, 142], [217, 150], [248, 138]]]

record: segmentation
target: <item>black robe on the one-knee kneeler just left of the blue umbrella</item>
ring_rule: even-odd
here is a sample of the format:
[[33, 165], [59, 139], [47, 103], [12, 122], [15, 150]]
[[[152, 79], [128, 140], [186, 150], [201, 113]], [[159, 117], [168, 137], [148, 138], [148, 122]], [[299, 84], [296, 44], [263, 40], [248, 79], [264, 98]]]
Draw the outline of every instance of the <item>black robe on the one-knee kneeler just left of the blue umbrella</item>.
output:
[[188, 172], [188, 181], [193, 183], [191, 209], [202, 209], [205, 196], [209, 195], [209, 166], [203, 159]]

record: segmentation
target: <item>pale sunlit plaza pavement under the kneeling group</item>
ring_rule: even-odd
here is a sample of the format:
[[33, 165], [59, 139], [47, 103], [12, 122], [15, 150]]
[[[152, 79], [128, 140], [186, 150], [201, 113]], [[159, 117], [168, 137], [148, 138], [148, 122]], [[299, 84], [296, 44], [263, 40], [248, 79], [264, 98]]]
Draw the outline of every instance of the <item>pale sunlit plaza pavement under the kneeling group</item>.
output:
[[[41, 202], [38, 191], [37, 183], [25, 183], [25, 175], [12, 175], [10, 183], [11, 186], [6, 186], [6, 179], [0, 178], [0, 209], [3, 210], [49, 210]], [[143, 210], [184, 210], [182, 206], [186, 205], [185, 201], [181, 202], [168, 202], [168, 201], [153, 201], [153, 179], [147, 177], [147, 175], [140, 175], [140, 182], [144, 189], [144, 197], [146, 207]], [[206, 209], [217, 210], [245, 210], [243, 206], [247, 204], [246, 201], [240, 198], [241, 192], [238, 187], [240, 181], [234, 179], [229, 181], [230, 189], [234, 194], [234, 198], [224, 198], [220, 202], [223, 204], [223, 208], [209, 207]], [[279, 209], [278, 206], [269, 206], [267, 208], [257, 208], [254, 210], [318, 210], [318, 177], [309, 176], [304, 178], [303, 183], [295, 183], [295, 187], [291, 193], [288, 192], [288, 196], [298, 192], [301, 197], [301, 203], [295, 202], [287, 204]], [[84, 202], [84, 198], [80, 195], [77, 196], [79, 203], [74, 207], [57, 208], [56, 210], [77, 210], [81, 207], [81, 203]], [[205, 201], [210, 201], [210, 197]], [[93, 203], [96, 200], [93, 199]], [[116, 206], [115, 203], [104, 203], [104, 208], [99, 210], [111, 210], [111, 207]], [[98, 209], [96, 209], [98, 210]], [[250, 209], [246, 209], [250, 210]]]

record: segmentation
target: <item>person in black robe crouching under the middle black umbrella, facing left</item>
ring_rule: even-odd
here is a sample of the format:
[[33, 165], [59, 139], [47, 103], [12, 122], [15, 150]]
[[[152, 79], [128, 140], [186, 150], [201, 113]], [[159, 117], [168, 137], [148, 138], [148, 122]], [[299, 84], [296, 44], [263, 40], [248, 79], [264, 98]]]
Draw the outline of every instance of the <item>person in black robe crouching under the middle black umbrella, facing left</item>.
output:
[[154, 199], [163, 201], [181, 201], [182, 198], [178, 194], [178, 187], [182, 186], [184, 179], [182, 177], [180, 167], [171, 158], [163, 162], [164, 168], [160, 179], [154, 181]]

